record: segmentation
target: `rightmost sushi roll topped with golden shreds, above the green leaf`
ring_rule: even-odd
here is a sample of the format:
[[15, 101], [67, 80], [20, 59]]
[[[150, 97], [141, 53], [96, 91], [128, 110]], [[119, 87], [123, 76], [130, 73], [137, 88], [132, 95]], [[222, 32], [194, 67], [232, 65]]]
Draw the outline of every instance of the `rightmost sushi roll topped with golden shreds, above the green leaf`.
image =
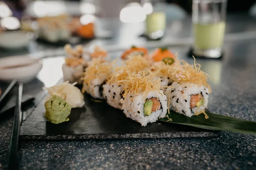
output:
[[201, 65], [190, 65], [184, 60], [175, 64], [172, 79], [174, 82], [167, 88], [165, 95], [168, 99], [168, 107], [177, 113], [186, 116], [204, 113], [208, 105], [208, 95], [211, 93], [207, 83], [209, 75], [200, 70]]

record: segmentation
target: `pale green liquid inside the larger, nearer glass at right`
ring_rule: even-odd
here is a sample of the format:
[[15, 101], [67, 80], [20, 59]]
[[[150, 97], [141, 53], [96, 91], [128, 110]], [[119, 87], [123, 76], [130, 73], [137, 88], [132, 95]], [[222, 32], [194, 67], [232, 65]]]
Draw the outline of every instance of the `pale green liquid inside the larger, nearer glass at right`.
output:
[[221, 48], [223, 44], [225, 23], [193, 24], [195, 48], [207, 50]]

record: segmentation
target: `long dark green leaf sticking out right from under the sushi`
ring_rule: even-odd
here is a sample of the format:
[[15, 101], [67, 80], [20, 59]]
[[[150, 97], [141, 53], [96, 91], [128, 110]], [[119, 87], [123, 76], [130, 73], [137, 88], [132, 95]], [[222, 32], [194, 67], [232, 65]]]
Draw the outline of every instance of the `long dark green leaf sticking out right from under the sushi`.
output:
[[256, 135], [256, 122], [210, 113], [209, 111], [206, 111], [206, 113], [209, 116], [208, 119], [204, 118], [204, 114], [188, 117], [175, 111], [170, 111], [170, 114], [167, 115], [172, 121], [167, 116], [159, 120], [208, 130], [223, 130]]

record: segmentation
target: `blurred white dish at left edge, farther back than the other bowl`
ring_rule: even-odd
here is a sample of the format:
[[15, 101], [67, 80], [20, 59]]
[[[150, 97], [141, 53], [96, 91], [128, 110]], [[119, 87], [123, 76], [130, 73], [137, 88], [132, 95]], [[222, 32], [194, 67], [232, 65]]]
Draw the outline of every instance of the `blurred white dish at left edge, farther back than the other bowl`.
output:
[[23, 48], [29, 45], [30, 39], [23, 31], [6, 31], [0, 34], [0, 47]]

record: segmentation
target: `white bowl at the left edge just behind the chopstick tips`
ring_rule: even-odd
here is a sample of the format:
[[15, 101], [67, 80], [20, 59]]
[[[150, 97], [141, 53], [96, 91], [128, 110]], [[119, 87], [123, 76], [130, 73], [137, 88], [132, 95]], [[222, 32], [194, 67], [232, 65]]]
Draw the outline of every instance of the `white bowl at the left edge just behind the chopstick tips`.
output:
[[[12, 67], [15, 65], [19, 67]], [[31, 57], [3, 57], [0, 58], [0, 80], [9, 82], [17, 79], [21, 82], [28, 82], [36, 77], [42, 66], [41, 60]]]

